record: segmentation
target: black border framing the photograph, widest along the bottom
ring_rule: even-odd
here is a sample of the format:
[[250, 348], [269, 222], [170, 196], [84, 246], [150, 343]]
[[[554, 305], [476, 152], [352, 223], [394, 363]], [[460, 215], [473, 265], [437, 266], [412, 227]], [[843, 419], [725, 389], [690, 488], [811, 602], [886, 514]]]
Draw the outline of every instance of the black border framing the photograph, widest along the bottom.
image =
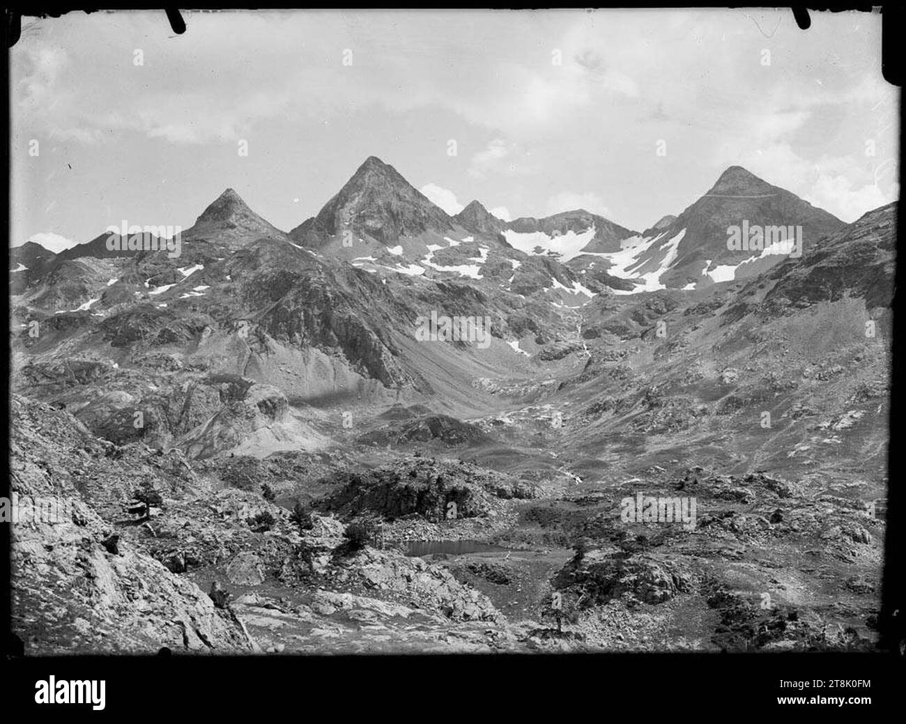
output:
[[[266, 7], [279, 5], [266, 5]], [[525, 5], [524, 8], [550, 5]], [[626, 6], [626, 5], [612, 5]], [[672, 5], [651, 4], [648, 7]], [[723, 4], [696, 3], [697, 7]], [[193, 5], [193, 9], [217, 9], [230, 4]], [[230, 9], [254, 9], [256, 5], [235, 3]], [[401, 3], [396, 8], [419, 7]], [[488, 5], [482, 5], [488, 7]], [[516, 7], [510, 5], [509, 7]], [[67, 12], [95, 12], [101, 9], [159, 9], [159, 5], [130, 2], [100, 6], [45, 5], [16, 3], [4, 8], [4, 39], [10, 47], [20, 34], [22, 16], [58, 17]], [[419, 8], [421, 9], [421, 8]], [[808, 24], [808, 14], [843, 10], [870, 12], [871, 5], [799, 5], [792, 8], [800, 27]], [[161, 10], [162, 32], [180, 34], [178, 11]], [[903, 30], [899, 6], [882, 5], [882, 72], [888, 82], [902, 81], [901, 54], [896, 51]], [[167, 26], [168, 21], [172, 27]], [[185, 26], [183, 25], [183, 28]], [[803, 32], [807, 32], [807, 29]], [[186, 29], [191, 42], [191, 27]], [[8, 88], [9, 58], [3, 56], [3, 81]], [[9, 139], [9, 95], [4, 94], [2, 113]], [[901, 128], [901, 149], [902, 149]], [[4, 146], [7, 170], [7, 198], [3, 223], [9, 235], [9, 143]], [[898, 252], [906, 247], [903, 220], [898, 213]], [[898, 261], [901, 255], [898, 254]], [[889, 457], [888, 521], [903, 521], [904, 492], [901, 487], [901, 425], [896, 411], [903, 404], [906, 381], [901, 377], [906, 332], [903, 330], [903, 292], [906, 265], [897, 265], [892, 300], [892, 391], [891, 445]], [[9, 279], [5, 278], [3, 301], [9, 316]], [[6, 359], [8, 365], [8, 357]], [[4, 374], [4, 391], [9, 399], [9, 372]], [[8, 418], [7, 418], [8, 420]], [[8, 424], [8, 422], [7, 422]], [[8, 468], [8, 454], [5, 457]], [[5, 476], [5, 490], [9, 485]], [[5, 492], [8, 496], [8, 492]], [[2, 529], [3, 545], [9, 551], [9, 528]], [[413, 656], [90, 656], [23, 658], [9, 630], [9, 559], [3, 562], [5, 595], [0, 596], [0, 615], [5, 622], [0, 687], [4, 703], [14, 710], [34, 713], [62, 713], [72, 716], [78, 710], [92, 717], [104, 714], [148, 716], [150, 713], [251, 715], [257, 717], [308, 717], [367, 714], [371, 717], [403, 714], [410, 717], [443, 716], [508, 717], [525, 712], [541, 718], [586, 716], [607, 718], [613, 715], [665, 717], [671, 714], [705, 717], [746, 717], [750, 712], [787, 710], [797, 716], [800, 706], [780, 706], [777, 696], [811, 696], [814, 690], [781, 690], [779, 681], [848, 679], [871, 680], [869, 689], [822, 690], [824, 696], [870, 696], [864, 708], [870, 716], [877, 707], [901, 703], [900, 688], [906, 681], [906, 595], [904, 595], [903, 554], [906, 553], [902, 529], [888, 525], [883, 568], [882, 651], [863, 653], [630, 653], [630, 654], [464, 654]], [[897, 615], [894, 615], [897, 613]], [[90, 707], [47, 707], [34, 703], [34, 682], [53, 674], [57, 679], [103, 679], [106, 681], [107, 706], [103, 711]], [[6, 709], [7, 706], [4, 708]], [[727, 707], [727, 708], [725, 708]], [[326, 711], [323, 711], [325, 709]], [[859, 716], [858, 709], [806, 706], [825, 716], [836, 710], [843, 716]], [[80, 712], [81, 713], [81, 712]], [[782, 715], [781, 715], [782, 716]]]

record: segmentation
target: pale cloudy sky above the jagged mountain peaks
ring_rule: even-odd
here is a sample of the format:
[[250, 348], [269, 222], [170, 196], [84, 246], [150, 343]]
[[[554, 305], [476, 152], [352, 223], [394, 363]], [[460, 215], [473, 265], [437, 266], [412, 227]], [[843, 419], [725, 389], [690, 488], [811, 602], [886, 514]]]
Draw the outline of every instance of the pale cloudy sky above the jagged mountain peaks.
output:
[[[25, 18], [11, 244], [192, 225], [225, 188], [289, 230], [377, 156], [448, 213], [642, 230], [739, 165], [843, 221], [899, 197], [881, 17], [786, 10], [162, 11]], [[243, 151], [246, 153], [243, 153]]]

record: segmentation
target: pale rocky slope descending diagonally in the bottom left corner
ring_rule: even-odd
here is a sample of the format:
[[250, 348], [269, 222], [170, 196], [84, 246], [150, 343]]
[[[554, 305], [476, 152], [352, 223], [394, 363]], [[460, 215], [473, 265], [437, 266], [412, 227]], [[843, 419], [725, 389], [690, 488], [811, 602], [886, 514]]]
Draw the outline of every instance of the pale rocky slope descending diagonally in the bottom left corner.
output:
[[188, 482], [182, 470], [163, 458], [133, 467], [108, 457], [71, 415], [46, 405], [16, 396], [11, 412], [13, 491], [71, 511], [13, 526], [13, 622], [26, 653], [251, 651], [241, 626], [197, 585], [93, 505], [100, 487], [108, 501], [128, 499], [145, 476], [175, 494]]

